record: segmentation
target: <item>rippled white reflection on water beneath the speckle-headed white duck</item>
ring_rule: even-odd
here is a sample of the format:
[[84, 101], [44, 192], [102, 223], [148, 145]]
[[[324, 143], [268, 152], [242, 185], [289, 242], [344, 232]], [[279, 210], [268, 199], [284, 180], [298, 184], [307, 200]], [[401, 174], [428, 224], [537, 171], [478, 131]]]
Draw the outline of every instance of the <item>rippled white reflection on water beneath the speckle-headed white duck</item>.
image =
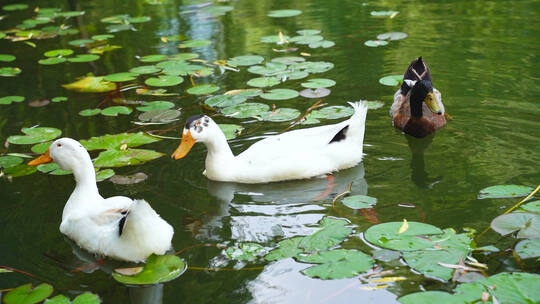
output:
[[[328, 177], [270, 184], [238, 184], [208, 181], [210, 195], [217, 198], [219, 211], [198, 231], [200, 240], [268, 242], [276, 237], [307, 235], [325, 215], [335, 195], [352, 183], [353, 194], [366, 194], [364, 164]], [[230, 227], [230, 231], [223, 231]]]

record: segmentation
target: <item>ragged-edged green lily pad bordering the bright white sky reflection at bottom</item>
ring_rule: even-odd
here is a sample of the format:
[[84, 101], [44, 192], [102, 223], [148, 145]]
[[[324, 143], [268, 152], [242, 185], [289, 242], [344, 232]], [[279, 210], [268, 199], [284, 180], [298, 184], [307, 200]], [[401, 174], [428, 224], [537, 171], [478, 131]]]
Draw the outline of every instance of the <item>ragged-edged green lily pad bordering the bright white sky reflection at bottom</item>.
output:
[[302, 273], [323, 280], [352, 278], [373, 267], [373, 259], [360, 251], [336, 249], [318, 252], [297, 259], [306, 263], [321, 264], [302, 270]]

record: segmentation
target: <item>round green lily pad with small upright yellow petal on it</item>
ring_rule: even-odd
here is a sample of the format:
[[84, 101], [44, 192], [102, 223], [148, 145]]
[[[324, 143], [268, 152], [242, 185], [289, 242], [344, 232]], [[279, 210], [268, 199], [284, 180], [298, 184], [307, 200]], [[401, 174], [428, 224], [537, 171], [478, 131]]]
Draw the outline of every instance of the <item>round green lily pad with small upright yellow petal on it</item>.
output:
[[402, 225], [402, 222], [389, 222], [371, 226], [364, 232], [364, 237], [375, 246], [411, 251], [432, 247], [433, 241], [425, 236], [443, 233], [435, 226], [418, 222], [409, 222], [409, 228], [398, 233]]

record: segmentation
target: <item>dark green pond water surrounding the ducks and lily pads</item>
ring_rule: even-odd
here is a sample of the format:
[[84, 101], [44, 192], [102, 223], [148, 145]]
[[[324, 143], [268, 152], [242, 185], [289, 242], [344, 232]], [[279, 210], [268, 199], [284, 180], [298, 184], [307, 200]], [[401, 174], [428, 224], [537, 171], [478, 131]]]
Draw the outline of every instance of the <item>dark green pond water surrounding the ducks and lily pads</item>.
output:
[[[9, 3], [0, 1], [1, 5]], [[0, 79], [0, 96], [21, 95], [26, 101], [0, 106], [0, 140], [19, 134], [22, 127], [56, 127], [63, 136], [87, 139], [114, 134], [135, 127], [137, 114], [122, 117], [81, 117], [77, 113], [93, 108], [104, 98], [99, 94], [68, 92], [61, 84], [72, 82], [87, 73], [107, 75], [124, 72], [139, 65], [135, 56], [185, 52], [177, 43], [164, 44], [160, 37], [183, 34], [193, 39], [208, 39], [212, 44], [197, 48], [206, 60], [227, 59], [244, 54], [258, 54], [267, 59], [282, 56], [272, 45], [260, 43], [261, 36], [279, 30], [294, 35], [300, 29], [320, 29], [325, 39], [336, 45], [329, 49], [299, 51], [311, 53], [312, 61], [329, 61], [335, 67], [320, 74], [337, 82], [332, 94], [324, 99], [330, 105], [346, 101], [380, 100], [384, 107], [368, 113], [364, 162], [334, 176], [335, 186], [328, 195], [326, 180], [296, 181], [271, 185], [245, 186], [207, 181], [204, 169], [204, 146], [198, 145], [184, 159], [162, 157], [145, 165], [116, 169], [118, 174], [144, 172], [149, 178], [136, 185], [99, 184], [103, 196], [126, 195], [144, 198], [175, 228], [176, 250], [197, 244], [234, 245], [256, 242], [272, 247], [287, 237], [307, 235], [325, 215], [344, 217], [356, 227], [356, 234], [345, 248], [369, 253], [360, 232], [375, 222], [425, 221], [441, 228], [464, 227], [483, 230], [515, 200], [477, 200], [478, 191], [496, 184], [536, 186], [540, 181], [540, 5], [538, 1], [231, 1], [234, 10], [214, 18], [188, 7], [189, 3], [170, 0], [163, 5], [143, 1], [33, 1], [33, 8], [60, 7], [84, 10], [82, 17], [67, 23], [80, 34], [36, 40], [36, 48], [24, 43], [0, 40], [0, 53], [15, 54], [13, 63], [22, 73]], [[266, 16], [274, 9], [294, 8], [303, 13], [296, 17], [273, 19]], [[374, 18], [374, 10], [396, 10], [395, 18]], [[152, 21], [136, 24], [138, 31], [115, 33], [111, 42], [122, 49], [105, 53], [88, 64], [37, 64], [44, 51], [72, 48], [73, 39], [104, 34], [99, 20], [115, 14], [151, 16]], [[2, 29], [14, 27], [31, 18], [31, 10], [9, 13], [0, 21]], [[401, 31], [409, 37], [378, 48], [364, 46], [377, 34]], [[292, 53], [292, 54], [298, 54]], [[382, 76], [402, 74], [408, 63], [423, 56], [431, 68], [433, 83], [443, 95], [452, 121], [435, 136], [411, 139], [395, 130], [388, 116], [396, 87], [378, 83]], [[319, 75], [317, 75], [318, 77]], [[196, 79], [214, 83], [221, 93], [246, 87], [253, 78], [242, 69], [239, 73]], [[299, 81], [280, 87], [299, 89]], [[182, 107], [181, 121], [201, 113], [201, 98], [185, 94], [189, 81], [173, 87], [180, 97], [136, 97], [143, 100], [169, 100]], [[29, 107], [28, 101], [68, 96], [68, 102], [45, 107]], [[133, 97], [133, 94], [130, 95]], [[269, 101], [257, 99], [271, 105]], [[280, 107], [304, 112], [315, 100], [298, 97], [278, 101]], [[261, 136], [285, 129], [289, 122], [258, 122], [218, 116], [219, 123], [242, 123], [244, 135], [230, 142], [235, 153], [243, 151]], [[333, 123], [333, 121], [323, 121]], [[157, 126], [165, 129], [168, 126]], [[167, 136], [179, 136], [176, 129]], [[147, 146], [170, 154], [176, 140], [163, 140]], [[28, 152], [29, 147], [11, 146], [10, 152]], [[352, 192], [378, 198], [369, 214], [355, 214], [343, 206], [332, 208], [331, 200], [353, 182]], [[152, 288], [128, 288], [115, 282], [110, 265], [95, 271], [72, 272], [87, 264], [88, 256], [76, 252], [58, 230], [62, 208], [73, 190], [72, 176], [36, 173], [9, 182], [0, 180], [0, 265], [28, 271], [55, 286], [64, 294], [92, 291], [105, 303], [394, 303], [404, 294], [425, 289], [449, 289], [442, 284], [414, 274], [407, 266], [394, 262], [379, 263], [393, 269], [393, 275], [408, 279], [389, 288], [365, 290], [357, 278], [322, 281], [299, 271], [307, 264], [286, 259], [273, 263], [248, 263], [255, 270], [202, 271], [188, 269], [179, 279]], [[399, 204], [413, 204], [414, 208]], [[480, 245], [499, 238], [488, 233]], [[75, 248], [75, 249], [74, 249]], [[225, 259], [221, 249], [201, 247], [180, 255], [189, 266], [241, 268]], [[519, 270], [508, 256], [489, 261], [490, 270]], [[111, 266], [112, 267], [112, 266]], [[0, 289], [27, 283], [19, 274], [0, 275]]]

